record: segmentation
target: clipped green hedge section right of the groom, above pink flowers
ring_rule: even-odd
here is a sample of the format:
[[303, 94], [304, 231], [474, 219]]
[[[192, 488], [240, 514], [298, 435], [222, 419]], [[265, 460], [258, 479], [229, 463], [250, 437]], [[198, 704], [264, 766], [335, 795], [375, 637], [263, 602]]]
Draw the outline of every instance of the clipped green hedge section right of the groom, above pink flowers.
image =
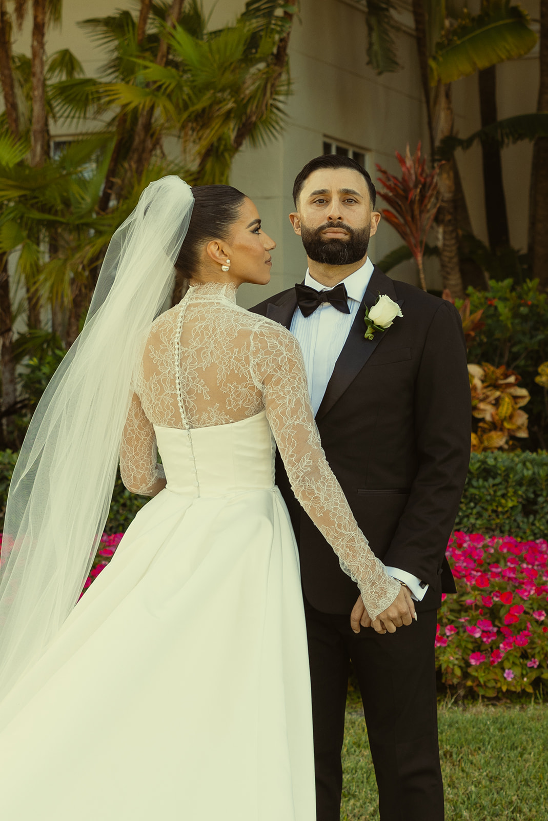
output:
[[473, 453], [456, 530], [548, 537], [548, 453]]

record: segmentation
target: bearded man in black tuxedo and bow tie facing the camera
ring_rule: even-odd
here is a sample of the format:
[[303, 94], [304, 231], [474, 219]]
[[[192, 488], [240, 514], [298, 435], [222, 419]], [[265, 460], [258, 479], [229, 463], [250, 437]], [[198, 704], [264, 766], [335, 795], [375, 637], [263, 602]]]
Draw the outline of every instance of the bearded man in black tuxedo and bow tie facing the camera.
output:
[[[368, 259], [381, 218], [375, 196], [368, 172], [350, 158], [307, 163], [290, 214], [307, 253], [304, 283], [253, 310], [299, 340], [327, 461], [372, 550], [407, 586], [418, 615], [394, 633], [372, 630], [358, 587], [296, 502], [278, 460], [276, 481], [300, 552], [317, 821], [340, 818], [349, 661], [381, 821], [441, 821], [434, 640], [441, 593], [454, 592], [445, 546], [470, 452], [466, 348], [453, 305], [386, 277]], [[366, 310], [384, 295], [402, 316], [366, 339]]]

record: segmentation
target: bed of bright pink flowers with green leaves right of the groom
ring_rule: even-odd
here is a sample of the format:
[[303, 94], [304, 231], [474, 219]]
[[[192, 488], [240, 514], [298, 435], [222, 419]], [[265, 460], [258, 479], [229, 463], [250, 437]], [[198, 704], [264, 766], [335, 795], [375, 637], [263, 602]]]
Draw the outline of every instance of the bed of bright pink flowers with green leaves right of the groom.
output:
[[447, 556], [457, 594], [439, 612], [441, 680], [486, 696], [532, 692], [548, 679], [548, 542], [457, 531]]

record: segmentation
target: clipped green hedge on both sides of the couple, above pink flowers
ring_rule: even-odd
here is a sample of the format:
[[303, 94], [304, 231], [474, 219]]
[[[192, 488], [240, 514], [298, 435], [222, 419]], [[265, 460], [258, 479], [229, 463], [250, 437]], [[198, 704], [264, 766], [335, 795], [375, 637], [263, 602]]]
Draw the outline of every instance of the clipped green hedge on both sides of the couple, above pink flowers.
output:
[[[16, 453], [0, 452], [0, 532]], [[135, 496], [116, 479], [106, 532], [120, 533], [148, 498]], [[455, 523], [466, 533], [548, 537], [548, 453], [473, 453]]]

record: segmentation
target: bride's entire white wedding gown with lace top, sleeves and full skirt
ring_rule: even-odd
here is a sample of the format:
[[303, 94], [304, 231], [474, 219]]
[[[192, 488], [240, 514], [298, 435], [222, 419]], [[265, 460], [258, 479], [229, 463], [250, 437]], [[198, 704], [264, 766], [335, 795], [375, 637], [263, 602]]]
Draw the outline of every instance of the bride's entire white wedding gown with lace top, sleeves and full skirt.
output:
[[167, 487], [0, 704], [2, 819], [314, 821], [275, 439], [370, 612], [395, 598], [323, 456], [295, 339], [226, 287], [190, 289], [153, 324], [121, 447], [130, 489], [164, 470]]

